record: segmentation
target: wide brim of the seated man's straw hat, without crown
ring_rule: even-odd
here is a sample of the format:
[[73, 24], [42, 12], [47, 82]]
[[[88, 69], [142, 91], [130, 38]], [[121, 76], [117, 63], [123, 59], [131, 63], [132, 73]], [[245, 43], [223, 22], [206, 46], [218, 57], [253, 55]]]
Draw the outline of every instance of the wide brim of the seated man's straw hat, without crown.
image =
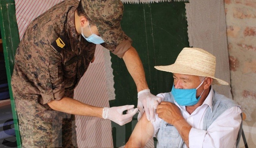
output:
[[155, 66], [155, 69], [165, 71], [165, 72], [172, 72], [172, 73], [180, 73], [185, 75], [194, 75], [194, 76], [204, 76], [204, 77], [210, 77], [213, 79], [212, 85], [229, 85], [228, 82], [215, 78], [214, 76], [211, 76], [207, 73], [198, 71], [196, 69], [193, 69], [193, 67], [186, 67], [181, 65], [168, 65], [168, 66]]

